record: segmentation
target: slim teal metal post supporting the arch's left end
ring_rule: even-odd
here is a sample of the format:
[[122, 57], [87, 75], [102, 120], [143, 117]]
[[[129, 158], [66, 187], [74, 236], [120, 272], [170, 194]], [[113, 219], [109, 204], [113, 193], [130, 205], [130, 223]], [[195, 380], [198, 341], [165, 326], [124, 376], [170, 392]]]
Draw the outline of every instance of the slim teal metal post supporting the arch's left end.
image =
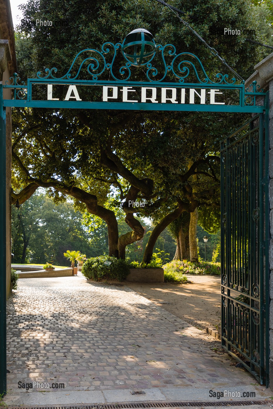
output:
[[[0, 101], [3, 85], [0, 84]], [[7, 392], [6, 313], [6, 110], [0, 104], [0, 393]]]

